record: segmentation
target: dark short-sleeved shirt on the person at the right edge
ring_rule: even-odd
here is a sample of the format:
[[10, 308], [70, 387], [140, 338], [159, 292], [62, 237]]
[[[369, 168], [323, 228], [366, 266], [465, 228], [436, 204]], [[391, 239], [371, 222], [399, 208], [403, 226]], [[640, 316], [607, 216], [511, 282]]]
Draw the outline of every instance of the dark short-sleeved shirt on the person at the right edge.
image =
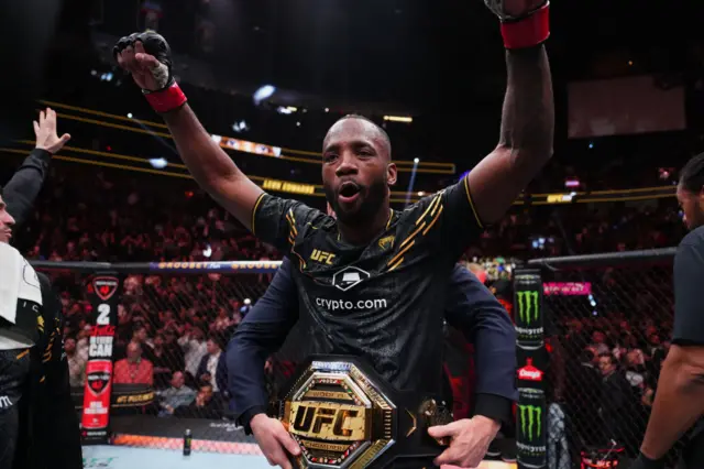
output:
[[704, 226], [685, 236], [674, 257], [672, 342], [704, 345]]

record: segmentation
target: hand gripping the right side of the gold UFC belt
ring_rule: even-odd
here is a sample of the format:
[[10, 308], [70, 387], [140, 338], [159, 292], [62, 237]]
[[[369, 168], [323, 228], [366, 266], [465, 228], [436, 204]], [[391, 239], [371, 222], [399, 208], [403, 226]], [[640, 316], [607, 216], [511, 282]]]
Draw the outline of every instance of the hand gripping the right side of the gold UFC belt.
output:
[[428, 428], [433, 438], [451, 438], [450, 447], [436, 458], [435, 465], [477, 467], [499, 428], [498, 422], [483, 415]]

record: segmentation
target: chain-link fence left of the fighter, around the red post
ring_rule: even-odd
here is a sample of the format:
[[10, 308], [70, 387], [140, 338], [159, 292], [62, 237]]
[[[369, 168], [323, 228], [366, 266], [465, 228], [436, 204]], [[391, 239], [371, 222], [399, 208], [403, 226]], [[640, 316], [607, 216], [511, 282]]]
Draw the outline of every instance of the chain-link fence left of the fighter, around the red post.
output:
[[[90, 285], [100, 277], [100, 265], [45, 262], [36, 266], [52, 279], [63, 304], [72, 393], [77, 412], [82, 413], [86, 380], [92, 375], [90, 361], [100, 347], [95, 342], [105, 342], [91, 337], [97, 316]], [[180, 449], [189, 430], [193, 450], [258, 454], [254, 440], [231, 418], [224, 351], [273, 273], [204, 269], [179, 274], [134, 266], [129, 271], [118, 275], [121, 287], [110, 339], [111, 440]], [[266, 375], [274, 382], [280, 373], [274, 358], [270, 359]]]

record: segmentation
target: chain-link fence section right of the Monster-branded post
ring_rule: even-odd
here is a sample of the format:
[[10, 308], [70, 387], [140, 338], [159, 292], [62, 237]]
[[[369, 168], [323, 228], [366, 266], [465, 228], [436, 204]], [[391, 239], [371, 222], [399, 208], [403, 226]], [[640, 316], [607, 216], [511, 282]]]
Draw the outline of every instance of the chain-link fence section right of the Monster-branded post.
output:
[[529, 262], [544, 282], [549, 469], [616, 467], [638, 454], [670, 347], [673, 254]]

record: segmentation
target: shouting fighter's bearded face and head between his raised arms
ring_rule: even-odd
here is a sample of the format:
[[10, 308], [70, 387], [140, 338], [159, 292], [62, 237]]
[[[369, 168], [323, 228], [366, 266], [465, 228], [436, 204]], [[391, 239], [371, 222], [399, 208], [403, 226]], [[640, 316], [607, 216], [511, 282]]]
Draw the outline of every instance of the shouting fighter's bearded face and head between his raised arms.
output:
[[330, 128], [322, 148], [322, 185], [339, 220], [370, 220], [388, 205], [388, 186], [395, 183], [388, 145], [373, 123], [350, 118]]

